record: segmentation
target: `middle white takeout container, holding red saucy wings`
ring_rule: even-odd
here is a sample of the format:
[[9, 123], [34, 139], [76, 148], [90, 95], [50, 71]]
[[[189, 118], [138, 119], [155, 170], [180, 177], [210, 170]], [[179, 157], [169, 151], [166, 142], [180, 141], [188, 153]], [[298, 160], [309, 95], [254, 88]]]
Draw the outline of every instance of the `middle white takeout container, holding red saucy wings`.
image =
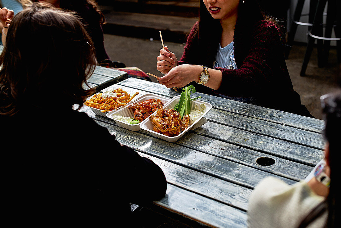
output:
[[[137, 100], [135, 100], [133, 103], [140, 102], [140, 101], [145, 101], [145, 100], [149, 100], [149, 99], [155, 99], [155, 100], [160, 99], [160, 101], [162, 101], [164, 104], [169, 101], [169, 98], [164, 98], [164, 97], [161, 97], [161, 96], [158, 96], [158, 95], [155, 95], [155, 94], [145, 94], [145, 95], [141, 96], [140, 98], [138, 98]], [[108, 118], [110, 118], [110, 119], [113, 119], [113, 115], [117, 114], [117, 113], [122, 115], [122, 116], [129, 116], [130, 118], [134, 118], [134, 112], [133, 112], [132, 109], [128, 109], [128, 105], [124, 105], [122, 107], [122, 109], [117, 109], [117, 110], [109, 111], [109, 112], [106, 113], [106, 116]], [[147, 120], [147, 119], [145, 119], [145, 120]], [[128, 129], [128, 130], [132, 130], [132, 131], [139, 131], [139, 130], [141, 130], [140, 124], [142, 124], [145, 120], [143, 120], [141, 123], [138, 123], [138, 124], [129, 124], [127, 122], [123, 122], [123, 121], [114, 119], [115, 123], [118, 126], [123, 127], [125, 129]]]

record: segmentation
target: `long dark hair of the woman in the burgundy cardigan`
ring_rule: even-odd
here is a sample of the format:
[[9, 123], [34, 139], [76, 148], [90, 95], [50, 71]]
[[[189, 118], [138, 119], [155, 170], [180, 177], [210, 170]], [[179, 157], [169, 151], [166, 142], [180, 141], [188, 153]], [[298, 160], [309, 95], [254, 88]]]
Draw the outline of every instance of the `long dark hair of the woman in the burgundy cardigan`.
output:
[[[278, 20], [268, 16], [257, 3], [257, 0], [239, 1], [238, 19], [239, 27], [251, 31], [251, 27], [260, 20], [271, 20], [278, 25]], [[198, 65], [207, 67], [213, 66], [216, 57], [218, 43], [221, 39], [222, 27], [219, 20], [214, 19], [208, 12], [205, 3], [200, 1], [199, 5], [199, 21], [195, 32], [188, 34], [191, 36], [191, 46], [195, 46], [202, 51], [202, 55], [198, 56]]]

